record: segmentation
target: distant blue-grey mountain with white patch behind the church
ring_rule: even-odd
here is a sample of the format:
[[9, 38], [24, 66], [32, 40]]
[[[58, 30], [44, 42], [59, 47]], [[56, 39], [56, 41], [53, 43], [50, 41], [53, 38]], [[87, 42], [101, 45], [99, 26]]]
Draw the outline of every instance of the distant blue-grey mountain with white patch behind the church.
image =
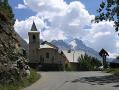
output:
[[56, 45], [57, 47], [59, 47], [62, 50], [73, 49], [75, 51], [83, 51], [92, 57], [96, 57], [98, 59], [101, 59], [101, 57], [99, 56], [97, 51], [86, 46], [83, 43], [83, 41], [79, 40], [79, 39], [73, 39], [73, 40], [68, 41], [68, 42], [63, 41], [63, 40], [53, 40], [53, 41], [51, 41], [51, 43]]

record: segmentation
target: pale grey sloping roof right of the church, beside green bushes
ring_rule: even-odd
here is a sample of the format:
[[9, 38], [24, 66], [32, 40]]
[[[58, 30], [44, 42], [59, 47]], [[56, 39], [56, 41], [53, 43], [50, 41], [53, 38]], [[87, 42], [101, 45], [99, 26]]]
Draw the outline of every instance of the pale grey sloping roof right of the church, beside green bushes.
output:
[[85, 54], [85, 52], [83, 52], [83, 51], [71, 51], [71, 52], [68, 52], [68, 50], [63, 50], [63, 53], [67, 57], [69, 62], [78, 62], [78, 58], [81, 55]]

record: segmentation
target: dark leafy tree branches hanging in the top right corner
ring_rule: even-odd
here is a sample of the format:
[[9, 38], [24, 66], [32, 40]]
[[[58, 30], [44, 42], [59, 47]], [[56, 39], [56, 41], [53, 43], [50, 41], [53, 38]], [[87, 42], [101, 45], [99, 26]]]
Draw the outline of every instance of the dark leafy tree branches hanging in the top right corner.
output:
[[100, 21], [114, 21], [116, 31], [119, 31], [119, 0], [102, 0], [98, 15], [93, 20], [95, 23]]

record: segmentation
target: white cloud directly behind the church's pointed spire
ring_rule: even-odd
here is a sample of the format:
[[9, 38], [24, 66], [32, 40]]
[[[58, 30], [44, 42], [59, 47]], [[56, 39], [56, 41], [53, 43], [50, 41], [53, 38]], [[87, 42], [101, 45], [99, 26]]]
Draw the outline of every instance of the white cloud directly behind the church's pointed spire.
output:
[[16, 20], [14, 29], [19, 35], [28, 42], [28, 31], [30, 31], [33, 21], [36, 23], [37, 29], [40, 31], [44, 27], [44, 22], [36, 16], [31, 16], [26, 20]]

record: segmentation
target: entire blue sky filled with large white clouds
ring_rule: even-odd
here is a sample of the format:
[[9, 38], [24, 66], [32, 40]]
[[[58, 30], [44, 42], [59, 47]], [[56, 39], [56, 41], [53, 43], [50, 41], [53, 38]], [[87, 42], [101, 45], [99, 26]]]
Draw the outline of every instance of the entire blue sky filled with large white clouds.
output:
[[28, 42], [33, 21], [43, 40], [81, 39], [87, 46], [106, 49], [110, 57], [119, 52], [113, 22], [91, 23], [101, 0], [9, 0], [15, 14], [14, 28]]

